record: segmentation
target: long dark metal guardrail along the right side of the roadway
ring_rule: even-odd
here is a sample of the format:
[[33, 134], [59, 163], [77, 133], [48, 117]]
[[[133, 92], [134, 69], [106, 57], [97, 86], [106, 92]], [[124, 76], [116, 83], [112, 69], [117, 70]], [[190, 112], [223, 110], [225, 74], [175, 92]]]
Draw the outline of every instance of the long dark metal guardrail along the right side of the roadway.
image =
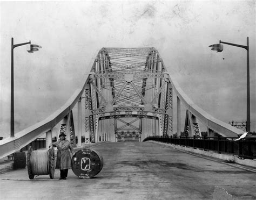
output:
[[198, 148], [203, 151], [214, 151], [217, 153], [226, 153], [238, 155], [241, 158], [256, 159], [256, 138], [238, 138], [229, 137], [161, 137], [150, 136], [143, 141], [158, 141], [174, 145]]

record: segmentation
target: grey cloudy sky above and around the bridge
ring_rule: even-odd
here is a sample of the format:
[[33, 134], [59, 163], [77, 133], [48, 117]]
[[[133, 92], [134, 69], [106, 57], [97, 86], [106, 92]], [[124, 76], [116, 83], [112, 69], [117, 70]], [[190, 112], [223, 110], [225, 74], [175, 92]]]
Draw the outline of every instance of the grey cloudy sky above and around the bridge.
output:
[[10, 134], [11, 37], [43, 47], [33, 54], [15, 48], [16, 132], [62, 106], [102, 47], [156, 47], [194, 103], [226, 123], [245, 122], [246, 50], [208, 46], [220, 39], [246, 45], [246, 37], [256, 131], [254, 1], [1, 1], [0, 9], [0, 136]]

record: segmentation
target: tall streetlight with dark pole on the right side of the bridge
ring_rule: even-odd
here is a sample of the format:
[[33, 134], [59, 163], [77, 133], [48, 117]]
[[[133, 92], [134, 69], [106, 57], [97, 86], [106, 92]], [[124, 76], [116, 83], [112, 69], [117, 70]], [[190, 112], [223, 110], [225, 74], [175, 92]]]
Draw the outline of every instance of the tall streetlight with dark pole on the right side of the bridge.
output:
[[249, 63], [249, 37], [247, 37], [247, 46], [244, 45], [237, 45], [237, 44], [233, 44], [230, 42], [224, 42], [221, 41], [219, 42], [219, 44], [214, 44], [214, 45], [210, 45], [209, 47], [211, 47], [211, 50], [213, 51], [217, 51], [218, 52], [222, 52], [223, 51], [223, 45], [221, 44], [226, 44], [226, 45], [231, 45], [231, 46], [236, 46], [236, 47], [241, 47], [246, 49], [247, 51], [247, 112], [246, 112], [246, 132], [250, 133], [250, 125], [251, 125], [251, 115], [250, 115], [250, 63]]

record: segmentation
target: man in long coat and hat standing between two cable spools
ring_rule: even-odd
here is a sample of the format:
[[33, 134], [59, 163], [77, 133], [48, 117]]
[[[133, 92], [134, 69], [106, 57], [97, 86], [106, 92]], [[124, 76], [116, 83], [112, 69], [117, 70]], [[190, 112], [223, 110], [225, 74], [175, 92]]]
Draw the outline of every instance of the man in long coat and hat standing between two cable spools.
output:
[[56, 142], [52, 142], [49, 146], [57, 147], [57, 161], [56, 161], [56, 169], [60, 170], [60, 178], [66, 180], [68, 176], [68, 171], [71, 168], [71, 155], [70, 151], [73, 153], [73, 147], [70, 144], [70, 141], [66, 140], [66, 135], [64, 133], [59, 134], [60, 140]]

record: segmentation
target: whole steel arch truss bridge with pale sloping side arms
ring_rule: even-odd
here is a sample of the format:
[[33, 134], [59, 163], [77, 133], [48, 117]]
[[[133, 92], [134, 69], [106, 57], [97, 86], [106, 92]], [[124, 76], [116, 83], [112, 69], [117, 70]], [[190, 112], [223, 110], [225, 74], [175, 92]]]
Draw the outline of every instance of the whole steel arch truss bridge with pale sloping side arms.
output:
[[[176, 105], [173, 98], [177, 99]], [[168, 137], [176, 132], [180, 135], [181, 103], [186, 108], [183, 127], [189, 137], [201, 136], [199, 121], [207, 127], [208, 136], [217, 132], [224, 137], [238, 137], [243, 133], [194, 104], [167, 72], [156, 48], [102, 48], [86, 72], [82, 88], [42, 122], [1, 140], [0, 155], [3, 158], [19, 151], [43, 133], [47, 146], [57, 125], [58, 133], [67, 134], [74, 146], [82, 145], [82, 137], [85, 143], [94, 143], [124, 137], [142, 141], [149, 135]], [[78, 119], [74, 123], [76, 104]], [[173, 106], [177, 106], [177, 113], [173, 113]], [[177, 130], [173, 130], [174, 118]]]

